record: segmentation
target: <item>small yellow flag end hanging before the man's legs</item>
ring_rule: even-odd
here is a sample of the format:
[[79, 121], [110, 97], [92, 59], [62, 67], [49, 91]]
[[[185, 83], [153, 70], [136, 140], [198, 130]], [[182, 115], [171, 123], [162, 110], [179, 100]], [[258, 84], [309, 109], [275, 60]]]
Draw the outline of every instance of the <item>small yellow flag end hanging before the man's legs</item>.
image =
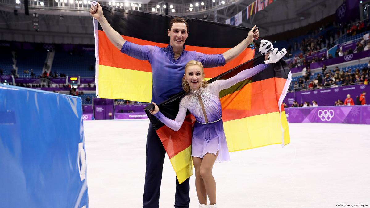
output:
[[187, 178], [193, 175], [193, 162], [191, 159], [191, 145], [182, 150], [174, 157], [172, 157], [169, 161], [171, 161], [172, 167], [176, 172], [177, 180], [179, 184], [184, 182]]

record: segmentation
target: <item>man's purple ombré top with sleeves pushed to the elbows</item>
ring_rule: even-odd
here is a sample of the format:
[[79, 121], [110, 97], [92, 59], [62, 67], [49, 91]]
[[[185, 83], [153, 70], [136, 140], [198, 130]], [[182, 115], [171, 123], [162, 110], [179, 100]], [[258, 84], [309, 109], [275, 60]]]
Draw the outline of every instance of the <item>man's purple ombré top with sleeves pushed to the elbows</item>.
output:
[[199, 61], [203, 67], [225, 65], [222, 54], [208, 55], [196, 51], [186, 51], [185, 46], [181, 55], [175, 60], [172, 46], [165, 48], [157, 46], [141, 46], [126, 41], [121, 52], [139, 60], [148, 60], [152, 67], [152, 102], [162, 103], [182, 91], [181, 83], [185, 65], [191, 60]]

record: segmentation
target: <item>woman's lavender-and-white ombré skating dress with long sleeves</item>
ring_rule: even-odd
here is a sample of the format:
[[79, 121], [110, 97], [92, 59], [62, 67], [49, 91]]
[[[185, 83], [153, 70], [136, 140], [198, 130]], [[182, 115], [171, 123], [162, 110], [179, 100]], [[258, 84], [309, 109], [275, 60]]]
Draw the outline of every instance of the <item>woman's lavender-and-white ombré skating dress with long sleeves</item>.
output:
[[[216, 154], [216, 161], [229, 161], [230, 155], [226, 143], [225, 132], [223, 131], [222, 109], [219, 92], [232, 85], [243, 81], [265, 69], [267, 64], [260, 64], [256, 67], [244, 70], [227, 80], [216, 80], [207, 87], [200, 87], [198, 90], [191, 90], [186, 94], [179, 104], [179, 112], [175, 120], [165, 117], [160, 111], [155, 116], [165, 125], [174, 131], [180, 129], [186, 116], [186, 109], [196, 118], [192, 135], [192, 157], [203, 158], [207, 153]], [[205, 121], [203, 108], [199, 102], [198, 95], [202, 99], [205, 114], [208, 122]]]

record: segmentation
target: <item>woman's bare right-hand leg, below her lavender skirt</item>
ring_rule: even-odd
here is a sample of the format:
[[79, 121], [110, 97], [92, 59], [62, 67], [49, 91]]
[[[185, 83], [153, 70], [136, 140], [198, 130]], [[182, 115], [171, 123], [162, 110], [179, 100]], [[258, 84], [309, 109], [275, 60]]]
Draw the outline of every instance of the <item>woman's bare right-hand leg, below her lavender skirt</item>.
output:
[[212, 175], [212, 168], [213, 164], [215, 164], [217, 154], [214, 155], [207, 153], [206, 155], [204, 155], [201, 168], [199, 170], [204, 181], [210, 205], [216, 204], [216, 181]]

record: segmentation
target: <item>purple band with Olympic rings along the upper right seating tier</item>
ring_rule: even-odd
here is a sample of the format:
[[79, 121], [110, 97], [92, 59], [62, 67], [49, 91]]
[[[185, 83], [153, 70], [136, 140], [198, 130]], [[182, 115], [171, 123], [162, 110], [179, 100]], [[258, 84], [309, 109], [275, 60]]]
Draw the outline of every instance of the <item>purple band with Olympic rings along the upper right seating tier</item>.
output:
[[[341, 57], [337, 57], [337, 58], [327, 59], [325, 61], [319, 61], [319, 62], [316, 62], [316, 63], [311, 63], [310, 68], [311, 69], [321, 68], [324, 64], [325, 64], [325, 66], [330, 66], [330, 65], [333, 65], [333, 64], [340, 64], [340, 63], [344, 63], [344, 62], [347, 62], [347, 61], [353, 61], [353, 60], [357, 60], [357, 59], [360, 59], [360, 58], [366, 58], [366, 57], [369, 57], [369, 56], [370, 56], [370, 50], [361, 51], [359, 53], [349, 54], [349, 55], [345, 55], [345, 56], [341, 56]], [[297, 72], [302, 71], [302, 69], [303, 69], [303, 66], [300, 66], [300, 67], [291, 68], [290, 71], [293, 74], [293, 73], [297, 73]]]

